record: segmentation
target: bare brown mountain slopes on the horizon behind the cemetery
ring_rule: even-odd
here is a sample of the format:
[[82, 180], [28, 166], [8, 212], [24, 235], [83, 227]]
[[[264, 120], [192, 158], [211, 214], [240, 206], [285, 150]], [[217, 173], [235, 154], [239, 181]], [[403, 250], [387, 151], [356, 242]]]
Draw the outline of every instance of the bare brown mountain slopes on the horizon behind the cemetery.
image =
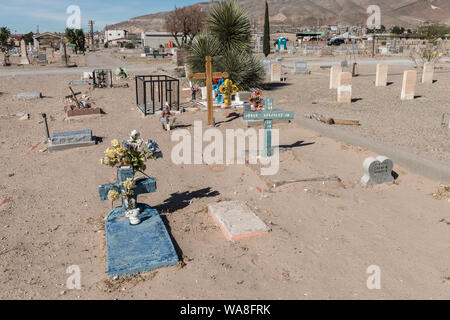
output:
[[[264, 0], [239, 0], [248, 12], [252, 24], [264, 23]], [[381, 24], [415, 27], [424, 22], [450, 25], [450, 0], [268, 0], [273, 29], [303, 28], [317, 25], [365, 25], [370, 5], [381, 8]], [[209, 11], [213, 2], [199, 2]], [[143, 15], [109, 25], [105, 29], [125, 29], [131, 33], [165, 31], [168, 12]]]

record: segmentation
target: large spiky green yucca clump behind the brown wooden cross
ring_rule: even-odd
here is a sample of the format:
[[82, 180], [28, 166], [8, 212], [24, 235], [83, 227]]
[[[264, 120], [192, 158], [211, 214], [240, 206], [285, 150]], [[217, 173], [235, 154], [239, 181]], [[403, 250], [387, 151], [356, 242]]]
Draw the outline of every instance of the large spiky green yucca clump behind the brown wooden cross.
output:
[[191, 72], [205, 72], [205, 57], [211, 56], [213, 71], [228, 72], [240, 90], [261, 88], [264, 69], [251, 54], [250, 20], [235, 0], [214, 6], [207, 30], [194, 39], [188, 50]]

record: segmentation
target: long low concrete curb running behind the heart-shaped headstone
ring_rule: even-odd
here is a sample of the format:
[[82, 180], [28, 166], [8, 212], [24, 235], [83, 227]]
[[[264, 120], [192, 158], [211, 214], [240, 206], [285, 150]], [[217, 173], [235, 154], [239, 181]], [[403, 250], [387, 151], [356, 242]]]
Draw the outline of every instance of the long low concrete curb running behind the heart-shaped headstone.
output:
[[427, 177], [431, 180], [440, 181], [441, 183], [450, 183], [450, 166], [444, 163], [422, 158], [413, 153], [375, 142], [368, 138], [355, 135], [354, 133], [339, 129], [337, 127], [332, 127], [316, 120], [296, 118], [293, 121], [305, 129], [316, 131], [324, 136], [327, 136], [328, 138], [339, 140], [349, 145], [365, 148], [376, 152], [379, 155], [389, 157], [394, 161], [394, 165], [397, 163], [413, 173]]

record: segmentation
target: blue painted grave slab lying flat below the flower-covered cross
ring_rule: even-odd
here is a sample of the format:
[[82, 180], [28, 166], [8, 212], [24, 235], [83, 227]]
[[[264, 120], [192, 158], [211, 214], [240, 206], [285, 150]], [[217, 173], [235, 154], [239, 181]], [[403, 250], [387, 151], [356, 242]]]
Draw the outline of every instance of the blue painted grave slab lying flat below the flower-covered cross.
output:
[[178, 263], [178, 255], [158, 211], [138, 204], [142, 222], [132, 226], [125, 209], [117, 207], [105, 220], [107, 271], [111, 277], [129, 276]]

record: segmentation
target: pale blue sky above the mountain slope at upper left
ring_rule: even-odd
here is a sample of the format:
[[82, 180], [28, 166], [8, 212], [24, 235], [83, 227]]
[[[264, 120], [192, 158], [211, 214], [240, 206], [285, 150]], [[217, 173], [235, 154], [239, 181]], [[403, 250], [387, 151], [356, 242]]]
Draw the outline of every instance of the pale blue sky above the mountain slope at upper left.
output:
[[185, 6], [199, 0], [0, 0], [0, 27], [12, 33], [59, 31], [66, 28], [67, 8], [77, 5], [81, 9], [81, 27], [88, 29], [88, 21], [95, 21], [95, 30], [107, 24], [133, 17], [172, 10], [175, 5]]

